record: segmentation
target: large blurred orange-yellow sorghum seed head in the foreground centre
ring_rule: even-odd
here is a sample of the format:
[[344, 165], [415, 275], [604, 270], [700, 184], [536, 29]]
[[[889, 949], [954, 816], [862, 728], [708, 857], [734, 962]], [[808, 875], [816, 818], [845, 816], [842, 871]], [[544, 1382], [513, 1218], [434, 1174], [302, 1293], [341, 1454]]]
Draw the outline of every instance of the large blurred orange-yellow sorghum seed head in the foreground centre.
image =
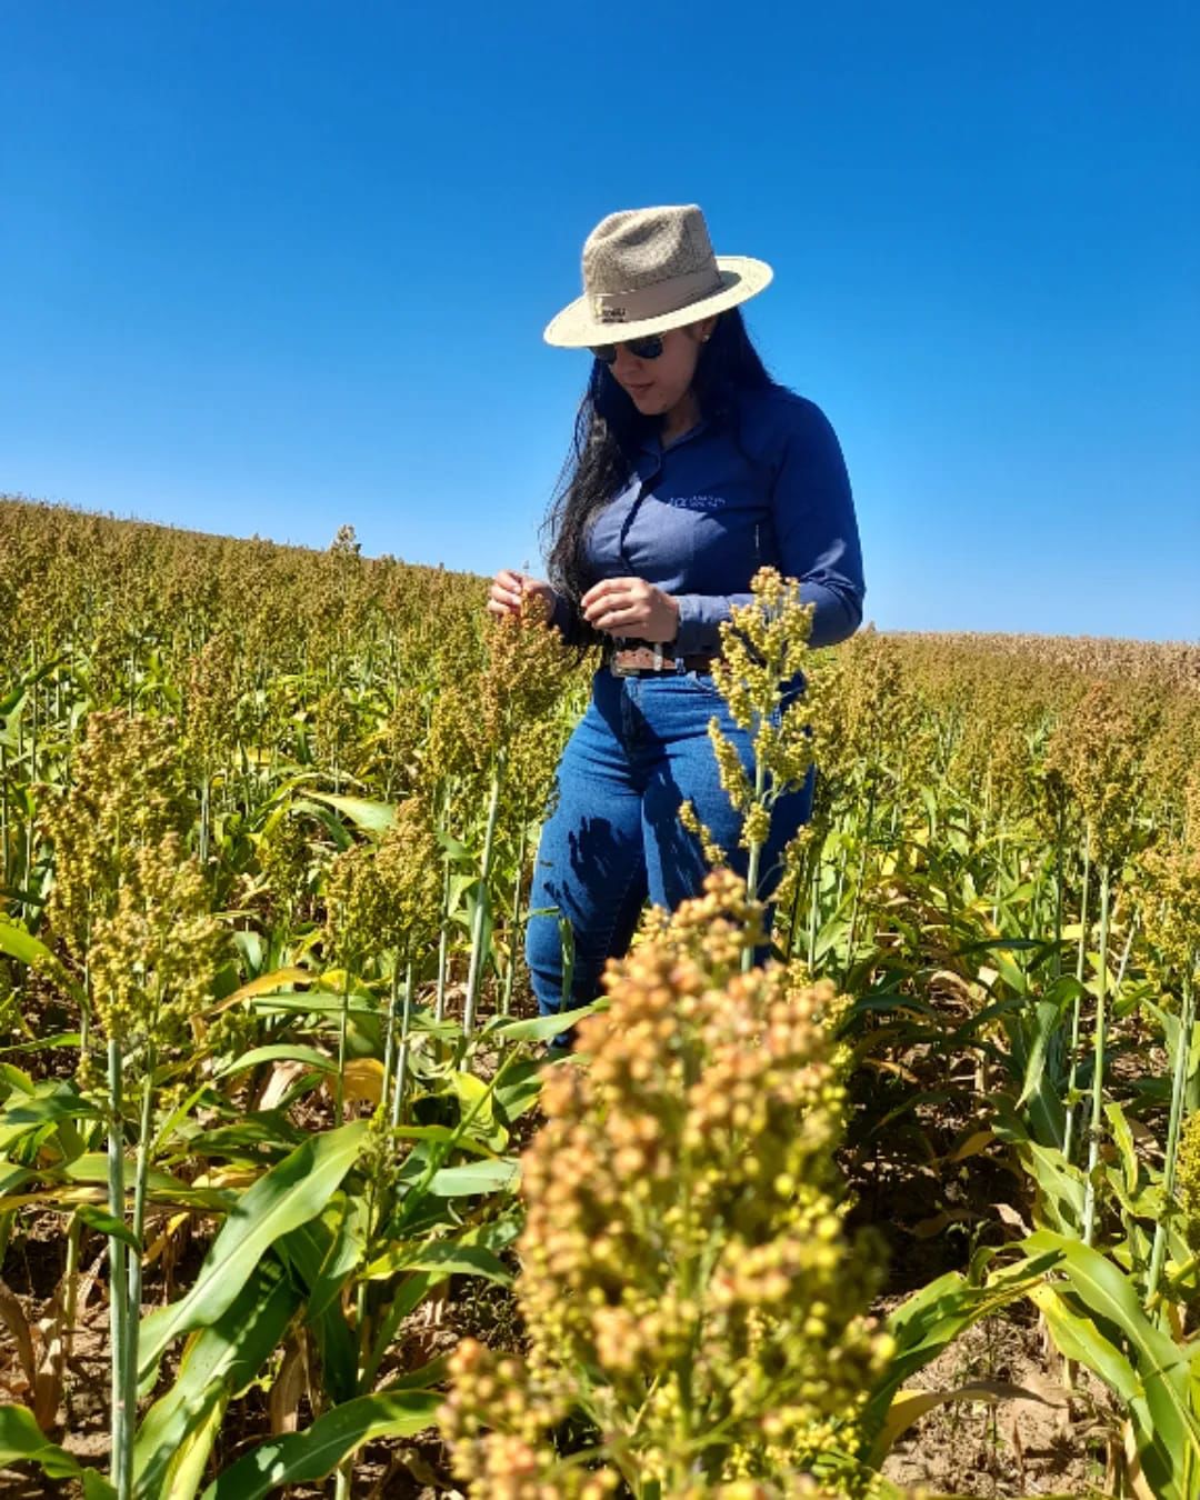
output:
[[800, 1494], [807, 1470], [854, 1490], [888, 1348], [861, 1316], [874, 1246], [838, 1209], [836, 998], [740, 972], [759, 930], [729, 872], [656, 912], [579, 1028], [588, 1070], [548, 1078], [524, 1158], [528, 1356], [465, 1341], [442, 1410], [471, 1494]]

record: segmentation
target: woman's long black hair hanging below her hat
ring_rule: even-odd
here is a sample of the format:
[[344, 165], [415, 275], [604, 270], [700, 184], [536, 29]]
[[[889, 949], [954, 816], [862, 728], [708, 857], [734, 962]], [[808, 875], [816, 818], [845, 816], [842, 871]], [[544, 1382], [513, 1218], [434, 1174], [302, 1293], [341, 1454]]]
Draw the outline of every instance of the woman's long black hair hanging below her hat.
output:
[[[746, 390], [772, 386], [766, 366], [750, 342], [741, 309], [717, 318], [711, 338], [700, 346], [692, 390], [705, 418], [735, 418], [736, 398]], [[596, 513], [622, 489], [633, 472], [642, 441], [660, 417], [644, 417], [600, 360], [592, 362], [588, 388], [579, 402], [574, 436], [546, 519], [546, 562], [554, 586], [578, 608], [591, 579], [584, 562], [584, 542]], [[579, 634], [603, 639], [582, 621]], [[582, 642], [580, 642], [582, 644]]]

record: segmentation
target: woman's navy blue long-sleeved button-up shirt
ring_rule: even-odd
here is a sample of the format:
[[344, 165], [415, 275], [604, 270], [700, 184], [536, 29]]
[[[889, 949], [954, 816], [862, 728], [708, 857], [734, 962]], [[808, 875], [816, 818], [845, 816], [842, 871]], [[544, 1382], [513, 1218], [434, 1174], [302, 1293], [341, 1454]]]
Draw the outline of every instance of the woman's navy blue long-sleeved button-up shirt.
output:
[[[640, 578], [680, 602], [680, 656], [717, 652], [730, 604], [750, 602], [766, 564], [798, 578], [816, 604], [812, 645], [852, 636], [862, 620], [862, 555], [850, 482], [834, 429], [782, 386], [746, 392], [735, 412], [702, 420], [662, 447], [648, 438], [634, 474], [594, 518], [591, 582]], [[576, 638], [558, 596], [554, 624]]]

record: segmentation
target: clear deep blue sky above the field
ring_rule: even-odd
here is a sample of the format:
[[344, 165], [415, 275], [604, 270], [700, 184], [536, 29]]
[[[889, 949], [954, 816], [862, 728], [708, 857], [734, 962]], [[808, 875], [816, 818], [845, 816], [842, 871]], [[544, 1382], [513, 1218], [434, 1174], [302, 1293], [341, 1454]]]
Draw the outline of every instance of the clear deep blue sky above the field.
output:
[[0, 0], [0, 490], [492, 573], [614, 208], [771, 261], [885, 628], [1200, 636], [1200, 21]]

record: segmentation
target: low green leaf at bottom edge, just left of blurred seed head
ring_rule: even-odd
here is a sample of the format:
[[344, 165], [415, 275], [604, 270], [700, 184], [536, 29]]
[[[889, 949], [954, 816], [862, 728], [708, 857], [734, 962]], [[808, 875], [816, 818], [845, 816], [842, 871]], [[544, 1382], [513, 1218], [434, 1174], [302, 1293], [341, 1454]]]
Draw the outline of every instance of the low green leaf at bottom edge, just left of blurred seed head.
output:
[[423, 1431], [441, 1402], [436, 1390], [381, 1390], [344, 1401], [308, 1431], [252, 1449], [208, 1485], [204, 1500], [261, 1500], [280, 1485], [316, 1484], [363, 1443]]

